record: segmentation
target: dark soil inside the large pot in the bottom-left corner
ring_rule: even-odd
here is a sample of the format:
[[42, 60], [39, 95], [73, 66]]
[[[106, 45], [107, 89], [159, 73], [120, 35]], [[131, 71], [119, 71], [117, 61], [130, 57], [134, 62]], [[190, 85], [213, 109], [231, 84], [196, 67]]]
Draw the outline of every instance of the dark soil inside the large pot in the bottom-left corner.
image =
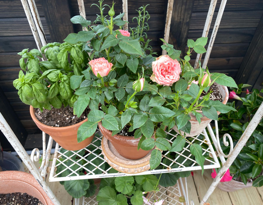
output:
[[1, 205], [43, 205], [37, 198], [29, 196], [27, 193], [0, 194]]

